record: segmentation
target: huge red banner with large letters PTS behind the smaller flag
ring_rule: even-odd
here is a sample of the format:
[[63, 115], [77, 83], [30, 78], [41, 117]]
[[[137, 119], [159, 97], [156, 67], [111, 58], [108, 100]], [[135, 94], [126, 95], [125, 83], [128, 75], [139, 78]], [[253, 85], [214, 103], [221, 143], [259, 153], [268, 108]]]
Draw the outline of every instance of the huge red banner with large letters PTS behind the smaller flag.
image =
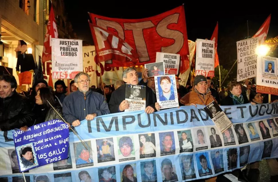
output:
[[[183, 5], [150, 18], [134, 20], [107, 18], [93, 13], [89, 15], [94, 26], [108, 30], [136, 50], [139, 55], [136, 65], [154, 63], [156, 52], [163, 52], [181, 55], [179, 67], [181, 73], [189, 68], [189, 48]], [[123, 65], [119, 61], [112, 60], [107, 66], [121, 67]]]

